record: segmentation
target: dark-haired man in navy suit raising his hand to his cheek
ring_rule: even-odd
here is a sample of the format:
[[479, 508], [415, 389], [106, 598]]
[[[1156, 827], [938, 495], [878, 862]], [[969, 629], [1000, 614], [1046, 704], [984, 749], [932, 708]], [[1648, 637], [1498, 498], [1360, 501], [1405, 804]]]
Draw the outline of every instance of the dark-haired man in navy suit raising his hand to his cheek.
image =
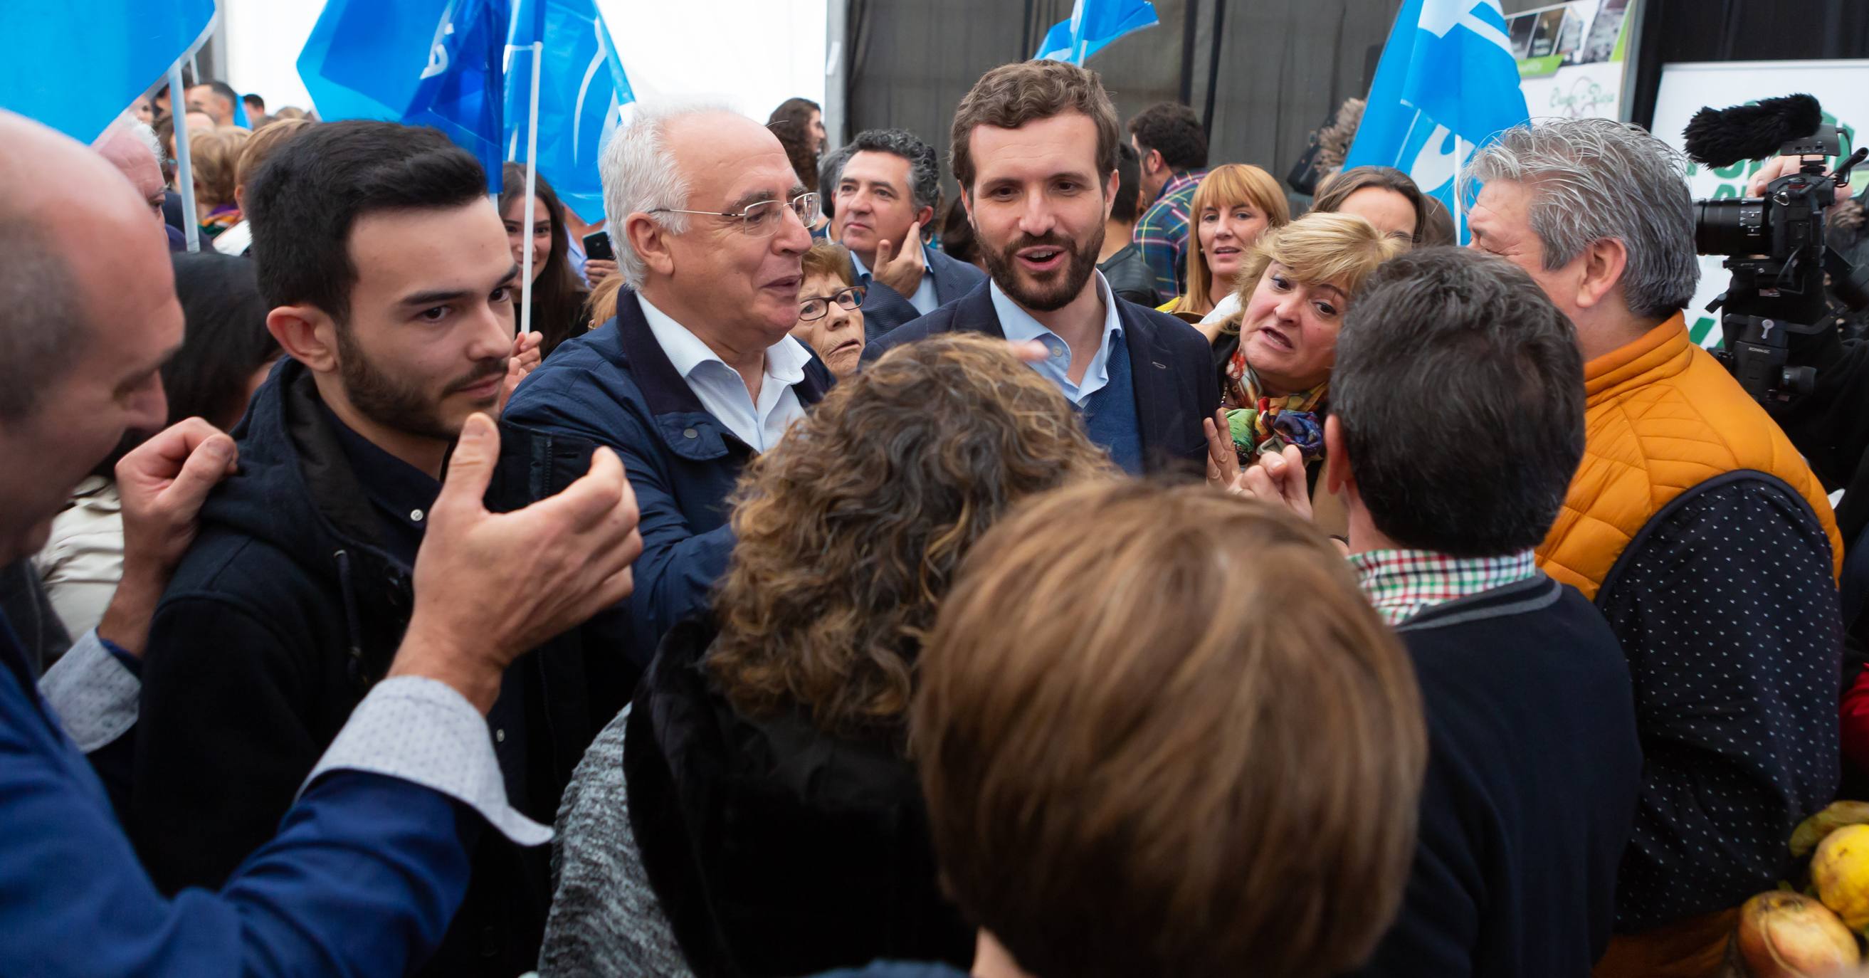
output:
[[863, 333], [875, 340], [966, 295], [987, 277], [921, 243], [940, 196], [934, 148], [906, 129], [865, 129], [828, 189], [832, 237], [850, 249], [863, 295]]

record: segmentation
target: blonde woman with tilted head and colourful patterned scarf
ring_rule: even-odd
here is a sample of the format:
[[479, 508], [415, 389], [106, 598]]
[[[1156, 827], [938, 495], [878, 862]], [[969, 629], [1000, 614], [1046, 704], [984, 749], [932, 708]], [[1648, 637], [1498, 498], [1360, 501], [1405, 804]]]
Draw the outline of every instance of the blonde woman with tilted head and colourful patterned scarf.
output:
[[[1363, 279], [1407, 247], [1348, 213], [1306, 213], [1267, 232], [1239, 267], [1239, 312], [1200, 325], [1222, 395], [1209, 441], [1230, 436], [1245, 464], [1295, 445], [1316, 481], [1336, 331]], [[1207, 471], [1215, 477], [1211, 458]]]

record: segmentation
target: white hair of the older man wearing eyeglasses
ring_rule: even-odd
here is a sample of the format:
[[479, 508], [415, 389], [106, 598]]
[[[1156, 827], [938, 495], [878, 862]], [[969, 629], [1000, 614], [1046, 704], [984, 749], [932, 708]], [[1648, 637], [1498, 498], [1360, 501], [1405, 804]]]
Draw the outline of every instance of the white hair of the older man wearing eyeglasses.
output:
[[669, 123], [684, 116], [736, 114], [727, 103], [714, 99], [656, 101], [637, 105], [626, 129], [611, 137], [598, 159], [604, 180], [604, 219], [609, 241], [617, 251], [617, 273], [630, 288], [643, 288], [649, 266], [630, 247], [624, 223], [632, 213], [647, 213], [671, 234], [688, 230], [686, 213], [650, 213], [660, 208], [688, 206], [688, 176], [667, 146]]

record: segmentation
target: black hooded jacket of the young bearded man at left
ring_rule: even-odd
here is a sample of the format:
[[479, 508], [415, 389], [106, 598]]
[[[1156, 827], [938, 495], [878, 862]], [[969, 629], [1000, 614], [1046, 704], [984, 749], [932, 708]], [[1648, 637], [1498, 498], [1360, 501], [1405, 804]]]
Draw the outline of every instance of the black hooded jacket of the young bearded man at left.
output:
[[[273, 838], [407, 628], [413, 568], [385, 548], [327, 417], [310, 372], [282, 361], [234, 430], [239, 471], [202, 507], [151, 623], [129, 828], [164, 892], [219, 886]], [[561, 441], [506, 426], [490, 509], [549, 496], [589, 467], [592, 445]], [[527, 793], [510, 802], [535, 821], [551, 821], [585, 748], [634, 692], [622, 617], [512, 666], [531, 696], [520, 733]], [[533, 967], [549, 875], [544, 849], [482, 834], [432, 974]]]

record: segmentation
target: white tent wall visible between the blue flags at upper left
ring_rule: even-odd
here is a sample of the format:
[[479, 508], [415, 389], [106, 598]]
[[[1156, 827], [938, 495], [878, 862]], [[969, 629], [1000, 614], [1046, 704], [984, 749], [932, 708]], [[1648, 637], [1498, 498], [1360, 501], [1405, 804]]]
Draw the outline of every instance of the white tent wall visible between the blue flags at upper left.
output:
[[[297, 60], [323, 6], [221, 0], [228, 84], [267, 108], [310, 108]], [[824, 103], [826, 0], [598, 0], [598, 9], [637, 97], [718, 95], [759, 122], [792, 95]]]

